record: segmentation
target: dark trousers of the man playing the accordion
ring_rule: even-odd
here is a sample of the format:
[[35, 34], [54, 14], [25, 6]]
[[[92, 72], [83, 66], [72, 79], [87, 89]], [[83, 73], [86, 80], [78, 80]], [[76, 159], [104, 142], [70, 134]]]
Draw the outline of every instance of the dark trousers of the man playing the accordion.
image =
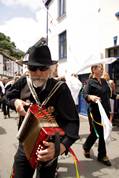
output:
[[[55, 178], [57, 160], [50, 166], [42, 165], [37, 168], [37, 178]], [[30, 166], [23, 147], [20, 144], [14, 157], [13, 178], [33, 178], [35, 170]]]

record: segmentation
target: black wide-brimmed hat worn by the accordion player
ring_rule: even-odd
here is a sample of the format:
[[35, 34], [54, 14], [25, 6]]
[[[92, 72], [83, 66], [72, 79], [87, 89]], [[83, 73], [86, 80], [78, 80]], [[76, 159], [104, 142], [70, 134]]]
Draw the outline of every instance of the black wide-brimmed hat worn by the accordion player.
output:
[[51, 66], [56, 64], [57, 61], [52, 61], [47, 45], [40, 45], [32, 48], [28, 55], [28, 61], [23, 63], [30, 66]]

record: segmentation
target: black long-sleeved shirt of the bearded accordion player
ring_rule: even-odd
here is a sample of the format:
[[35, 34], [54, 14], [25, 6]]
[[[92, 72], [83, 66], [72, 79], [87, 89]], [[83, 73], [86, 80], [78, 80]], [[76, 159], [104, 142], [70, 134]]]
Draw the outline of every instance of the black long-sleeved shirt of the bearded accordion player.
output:
[[[57, 82], [58, 81], [53, 78], [48, 79], [44, 90], [41, 88], [35, 88], [41, 103], [47, 98], [51, 89]], [[35, 100], [28, 88], [26, 77], [21, 77], [17, 80], [8, 90], [6, 96], [12, 109], [15, 109], [15, 99], [22, 99], [24, 101], [28, 99], [30, 102], [35, 103]], [[79, 116], [72, 99], [71, 92], [66, 83], [63, 83], [48, 101], [46, 108], [48, 106], [54, 107], [56, 121], [66, 133], [62, 143], [66, 148], [70, 147], [77, 139], [79, 139]]]

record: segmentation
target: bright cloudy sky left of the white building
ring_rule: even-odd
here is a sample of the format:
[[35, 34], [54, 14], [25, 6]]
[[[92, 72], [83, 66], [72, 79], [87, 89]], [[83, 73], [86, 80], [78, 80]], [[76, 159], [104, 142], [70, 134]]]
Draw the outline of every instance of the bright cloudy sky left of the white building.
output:
[[42, 0], [0, 0], [0, 32], [26, 52], [46, 36], [46, 8]]

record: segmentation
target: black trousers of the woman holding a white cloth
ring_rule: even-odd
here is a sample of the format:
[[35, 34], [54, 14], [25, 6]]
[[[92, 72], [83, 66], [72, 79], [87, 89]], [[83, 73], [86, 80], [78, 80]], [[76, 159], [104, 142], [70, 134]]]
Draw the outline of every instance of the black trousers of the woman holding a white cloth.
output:
[[89, 124], [90, 124], [90, 134], [87, 137], [83, 147], [86, 151], [90, 151], [91, 147], [94, 145], [94, 143], [97, 140], [97, 134], [99, 136], [99, 142], [98, 142], [98, 157], [103, 158], [106, 156], [106, 145], [104, 140], [104, 131], [103, 126], [95, 123], [94, 121], [90, 120], [89, 118]]

